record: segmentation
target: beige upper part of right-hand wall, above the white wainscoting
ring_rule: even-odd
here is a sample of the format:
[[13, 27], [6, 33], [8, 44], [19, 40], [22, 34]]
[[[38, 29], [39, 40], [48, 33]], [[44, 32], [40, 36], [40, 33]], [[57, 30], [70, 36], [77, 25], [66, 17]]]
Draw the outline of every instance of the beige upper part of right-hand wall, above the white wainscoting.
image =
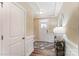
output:
[[63, 25], [65, 24], [68, 39], [77, 44], [79, 39], [79, 3], [64, 3], [61, 13], [64, 15]]

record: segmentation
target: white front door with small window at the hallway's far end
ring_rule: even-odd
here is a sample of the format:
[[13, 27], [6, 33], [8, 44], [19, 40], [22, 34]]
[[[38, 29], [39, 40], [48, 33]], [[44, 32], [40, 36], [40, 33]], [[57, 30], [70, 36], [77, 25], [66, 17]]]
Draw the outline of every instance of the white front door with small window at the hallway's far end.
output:
[[48, 30], [47, 30], [47, 19], [39, 20], [39, 38], [40, 41], [49, 41]]

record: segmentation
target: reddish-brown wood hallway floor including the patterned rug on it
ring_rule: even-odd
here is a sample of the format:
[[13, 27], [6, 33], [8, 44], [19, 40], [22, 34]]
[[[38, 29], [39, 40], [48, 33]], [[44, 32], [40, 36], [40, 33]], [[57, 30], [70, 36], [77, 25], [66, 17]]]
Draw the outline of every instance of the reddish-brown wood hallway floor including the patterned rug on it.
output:
[[55, 56], [54, 43], [36, 41], [31, 56]]

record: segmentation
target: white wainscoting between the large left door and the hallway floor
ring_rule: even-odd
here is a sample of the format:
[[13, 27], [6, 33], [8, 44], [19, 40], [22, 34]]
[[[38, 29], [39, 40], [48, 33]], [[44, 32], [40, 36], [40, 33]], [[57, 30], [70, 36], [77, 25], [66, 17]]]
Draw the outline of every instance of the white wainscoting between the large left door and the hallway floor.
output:
[[29, 56], [33, 51], [34, 51], [34, 35], [29, 35], [25, 37], [25, 43], [26, 43], [26, 48], [25, 48], [25, 56]]

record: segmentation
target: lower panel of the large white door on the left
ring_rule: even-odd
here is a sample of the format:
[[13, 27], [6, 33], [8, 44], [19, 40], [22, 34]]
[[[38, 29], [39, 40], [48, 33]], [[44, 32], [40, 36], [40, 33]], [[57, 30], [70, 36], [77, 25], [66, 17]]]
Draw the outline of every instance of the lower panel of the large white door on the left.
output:
[[10, 45], [10, 55], [11, 56], [24, 56], [24, 41], [23, 40]]

